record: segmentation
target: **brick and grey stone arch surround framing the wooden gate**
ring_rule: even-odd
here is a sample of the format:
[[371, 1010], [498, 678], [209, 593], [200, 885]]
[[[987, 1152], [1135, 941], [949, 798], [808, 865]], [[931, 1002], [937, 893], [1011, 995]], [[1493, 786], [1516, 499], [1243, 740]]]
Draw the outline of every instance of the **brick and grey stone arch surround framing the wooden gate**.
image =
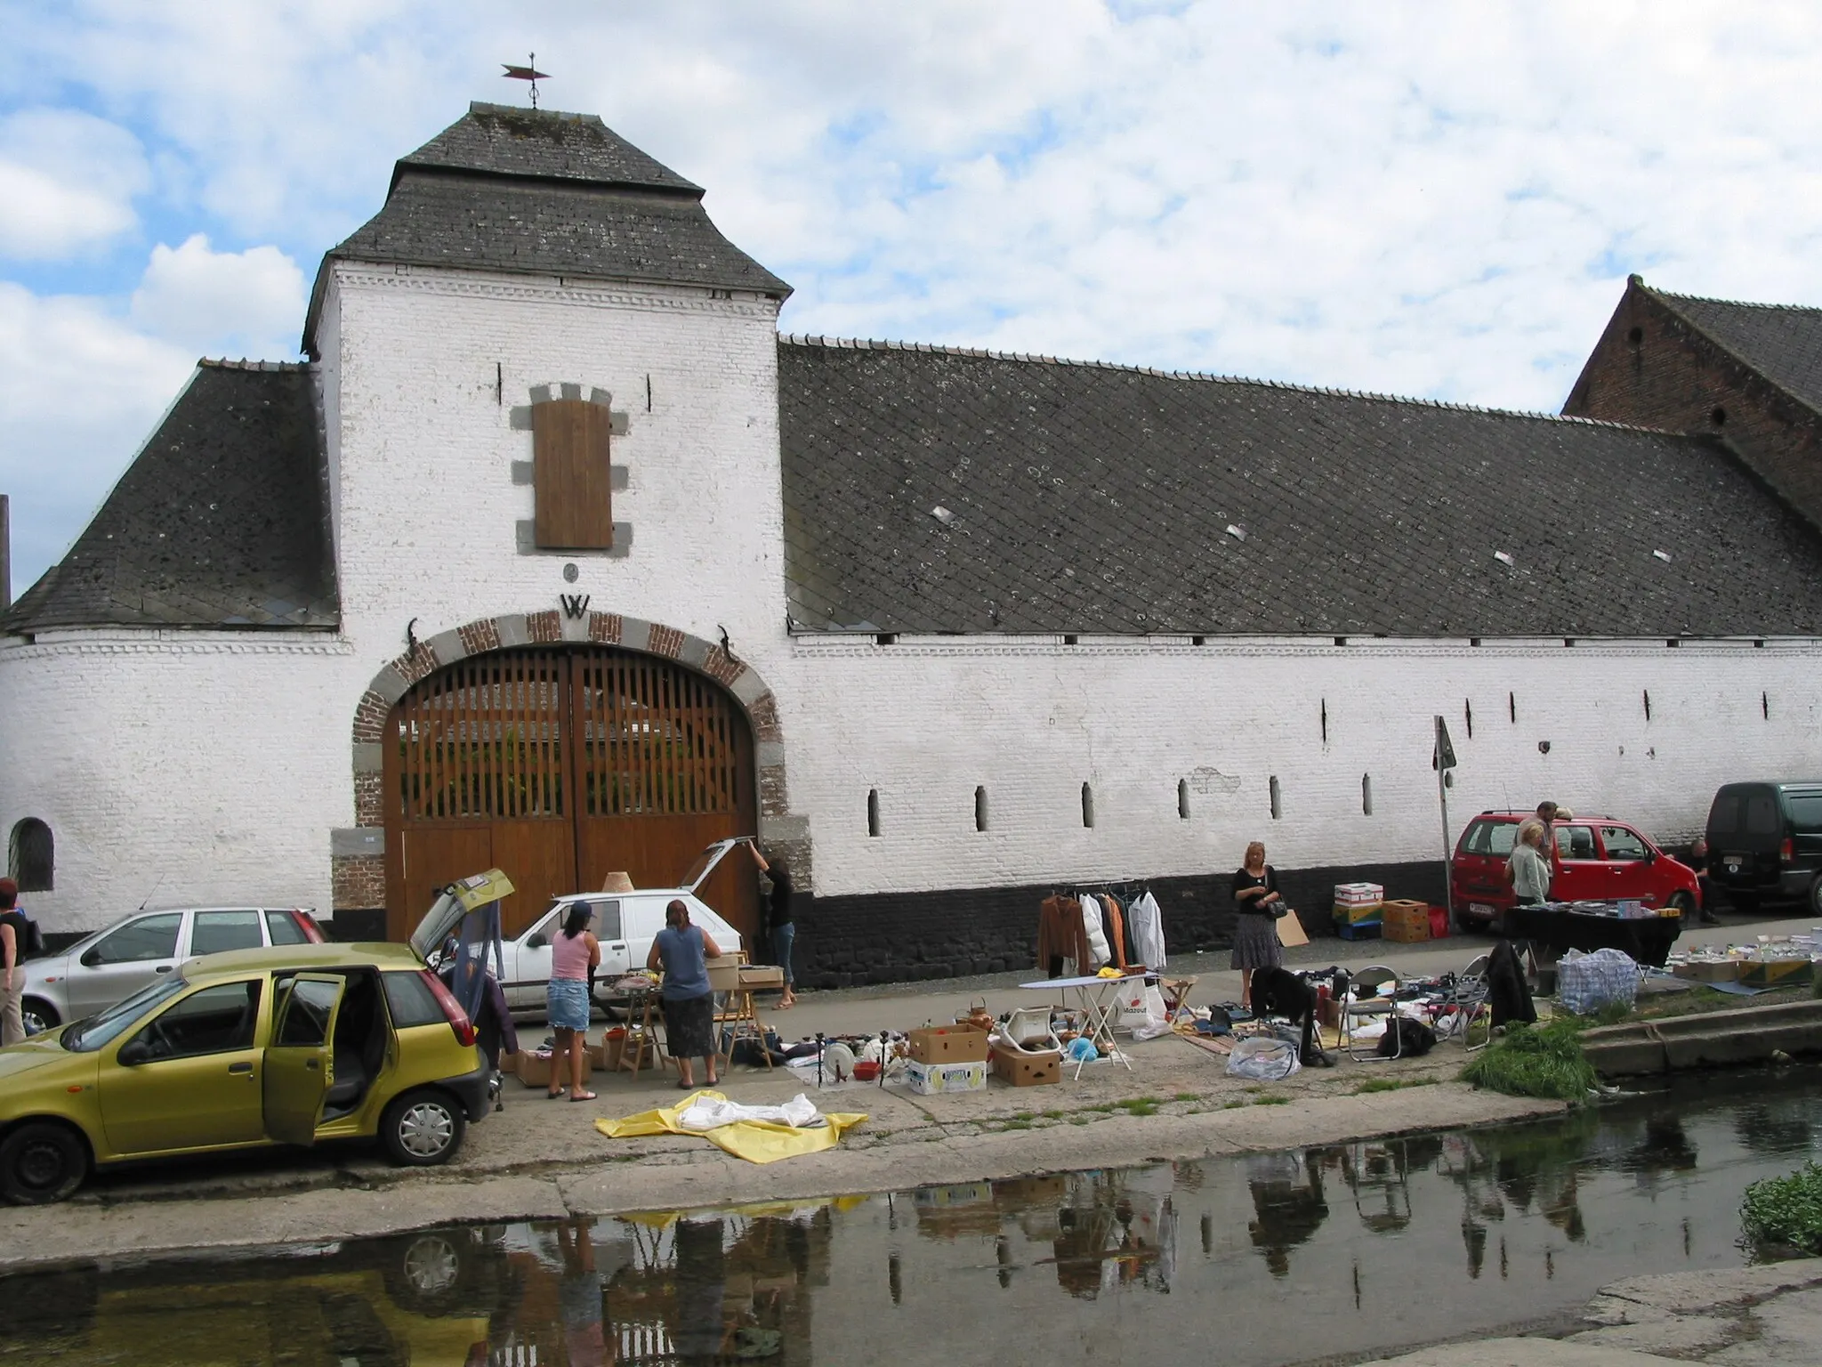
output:
[[[335, 911], [370, 913], [386, 906], [386, 820], [381, 769], [386, 718], [406, 691], [468, 656], [510, 651], [521, 645], [612, 645], [640, 651], [696, 669], [734, 696], [752, 727], [758, 775], [760, 840], [791, 860], [798, 888], [813, 886], [809, 820], [791, 813], [785, 782], [785, 744], [778, 724], [778, 698], [758, 673], [714, 642], [676, 627], [619, 612], [565, 616], [512, 612], [481, 618], [421, 640], [390, 660], [361, 694], [353, 711], [353, 818], [350, 829], [330, 833], [330, 882]], [[363, 931], [364, 933], [364, 931]]]

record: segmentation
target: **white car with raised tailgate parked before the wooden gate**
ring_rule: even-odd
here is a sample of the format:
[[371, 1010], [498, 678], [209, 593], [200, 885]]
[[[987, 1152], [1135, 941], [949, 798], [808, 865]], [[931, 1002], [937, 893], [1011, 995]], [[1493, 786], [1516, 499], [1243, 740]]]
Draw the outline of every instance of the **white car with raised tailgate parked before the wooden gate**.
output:
[[[519, 931], [517, 937], [501, 942], [503, 973], [501, 986], [507, 990], [507, 1004], [514, 1012], [545, 1010], [545, 986], [550, 982], [550, 940], [563, 930], [563, 920], [576, 902], [587, 902], [592, 913], [589, 930], [601, 942], [601, 968], [596, 971], [598, 984], [612, 982], [621, 973], [645, 968], [645, 957], [652, 951], [652, 939], [665, 928], [665, 908], [681, 899], [689, 906], [692, 924], [709, 931], [722, 953], [745, 948], [740, 931], [703, 902], [696, 889], [701, 888], [716, 866], [734, 849], [747, 844], [740, 840], [716, 840], [703, 849], [678, 888], [640, 888], [630, 893], [568, 893], [550, 902], [541, 917]], [[463, 917], [463, 908], [456, 899], [439, 900], [412, 935], [417, 953], [430, 962], [437, 962], [445, 940], [456, 931]], [[599, 993], [605, 995], [605, 993]]]

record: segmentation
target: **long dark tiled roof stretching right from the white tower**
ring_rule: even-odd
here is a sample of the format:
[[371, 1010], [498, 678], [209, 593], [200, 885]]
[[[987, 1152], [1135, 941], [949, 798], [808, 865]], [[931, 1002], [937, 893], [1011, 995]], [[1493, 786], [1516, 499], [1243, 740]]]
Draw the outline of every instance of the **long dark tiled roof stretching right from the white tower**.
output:
[[1704, 437], [935, 346], [778, 372], [804, 629], [1822, 632], [1822, 541]]

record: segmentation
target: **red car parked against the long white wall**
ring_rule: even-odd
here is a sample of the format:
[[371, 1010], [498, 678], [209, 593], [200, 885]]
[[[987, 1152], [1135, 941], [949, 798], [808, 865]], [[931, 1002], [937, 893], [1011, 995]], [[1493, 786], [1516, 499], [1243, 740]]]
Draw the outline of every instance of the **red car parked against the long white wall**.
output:
[[[1461, 831], [1448, 864], [1456, 922], [1463, 930], [1501, 928], [1512, 906], [1505, 860], [1529, 811], [1483, 811]], [[1572, 817], [1556, 822], [1551, 853], [1551, 897], [1558, 902], [1618, 902], [1674, 906], [1689, 917], [1698, 904], [1696, 875], [1665, 855], [1649, 835], [1612, 817]]]

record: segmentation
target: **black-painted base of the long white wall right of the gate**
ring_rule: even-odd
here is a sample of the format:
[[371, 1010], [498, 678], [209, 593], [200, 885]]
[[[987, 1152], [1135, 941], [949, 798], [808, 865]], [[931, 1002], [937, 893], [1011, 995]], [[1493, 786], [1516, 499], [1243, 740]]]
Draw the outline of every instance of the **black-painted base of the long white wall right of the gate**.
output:
[[[1443, 866], [1365, 864], [1279, 869], [1279, 888], [1310, 939], [1334, 937], [1337, 882], [1377, 882], [1387, 897], [1441, 902]], [[1095, 891], [1095, 884], [1080, 884]], [[1153, 879], [1172, 953], [1224, 950], [1233, 937], [1233, 875]], [[805, 988], [1004, 973], [1037, 966], [1039, 906], [1068, 884], [864, 897], [796, 897], [796, 979]], [[337, 913], [339, 915], [339, 913]], [[763, 955], [754, 955], [763, 959]]]

